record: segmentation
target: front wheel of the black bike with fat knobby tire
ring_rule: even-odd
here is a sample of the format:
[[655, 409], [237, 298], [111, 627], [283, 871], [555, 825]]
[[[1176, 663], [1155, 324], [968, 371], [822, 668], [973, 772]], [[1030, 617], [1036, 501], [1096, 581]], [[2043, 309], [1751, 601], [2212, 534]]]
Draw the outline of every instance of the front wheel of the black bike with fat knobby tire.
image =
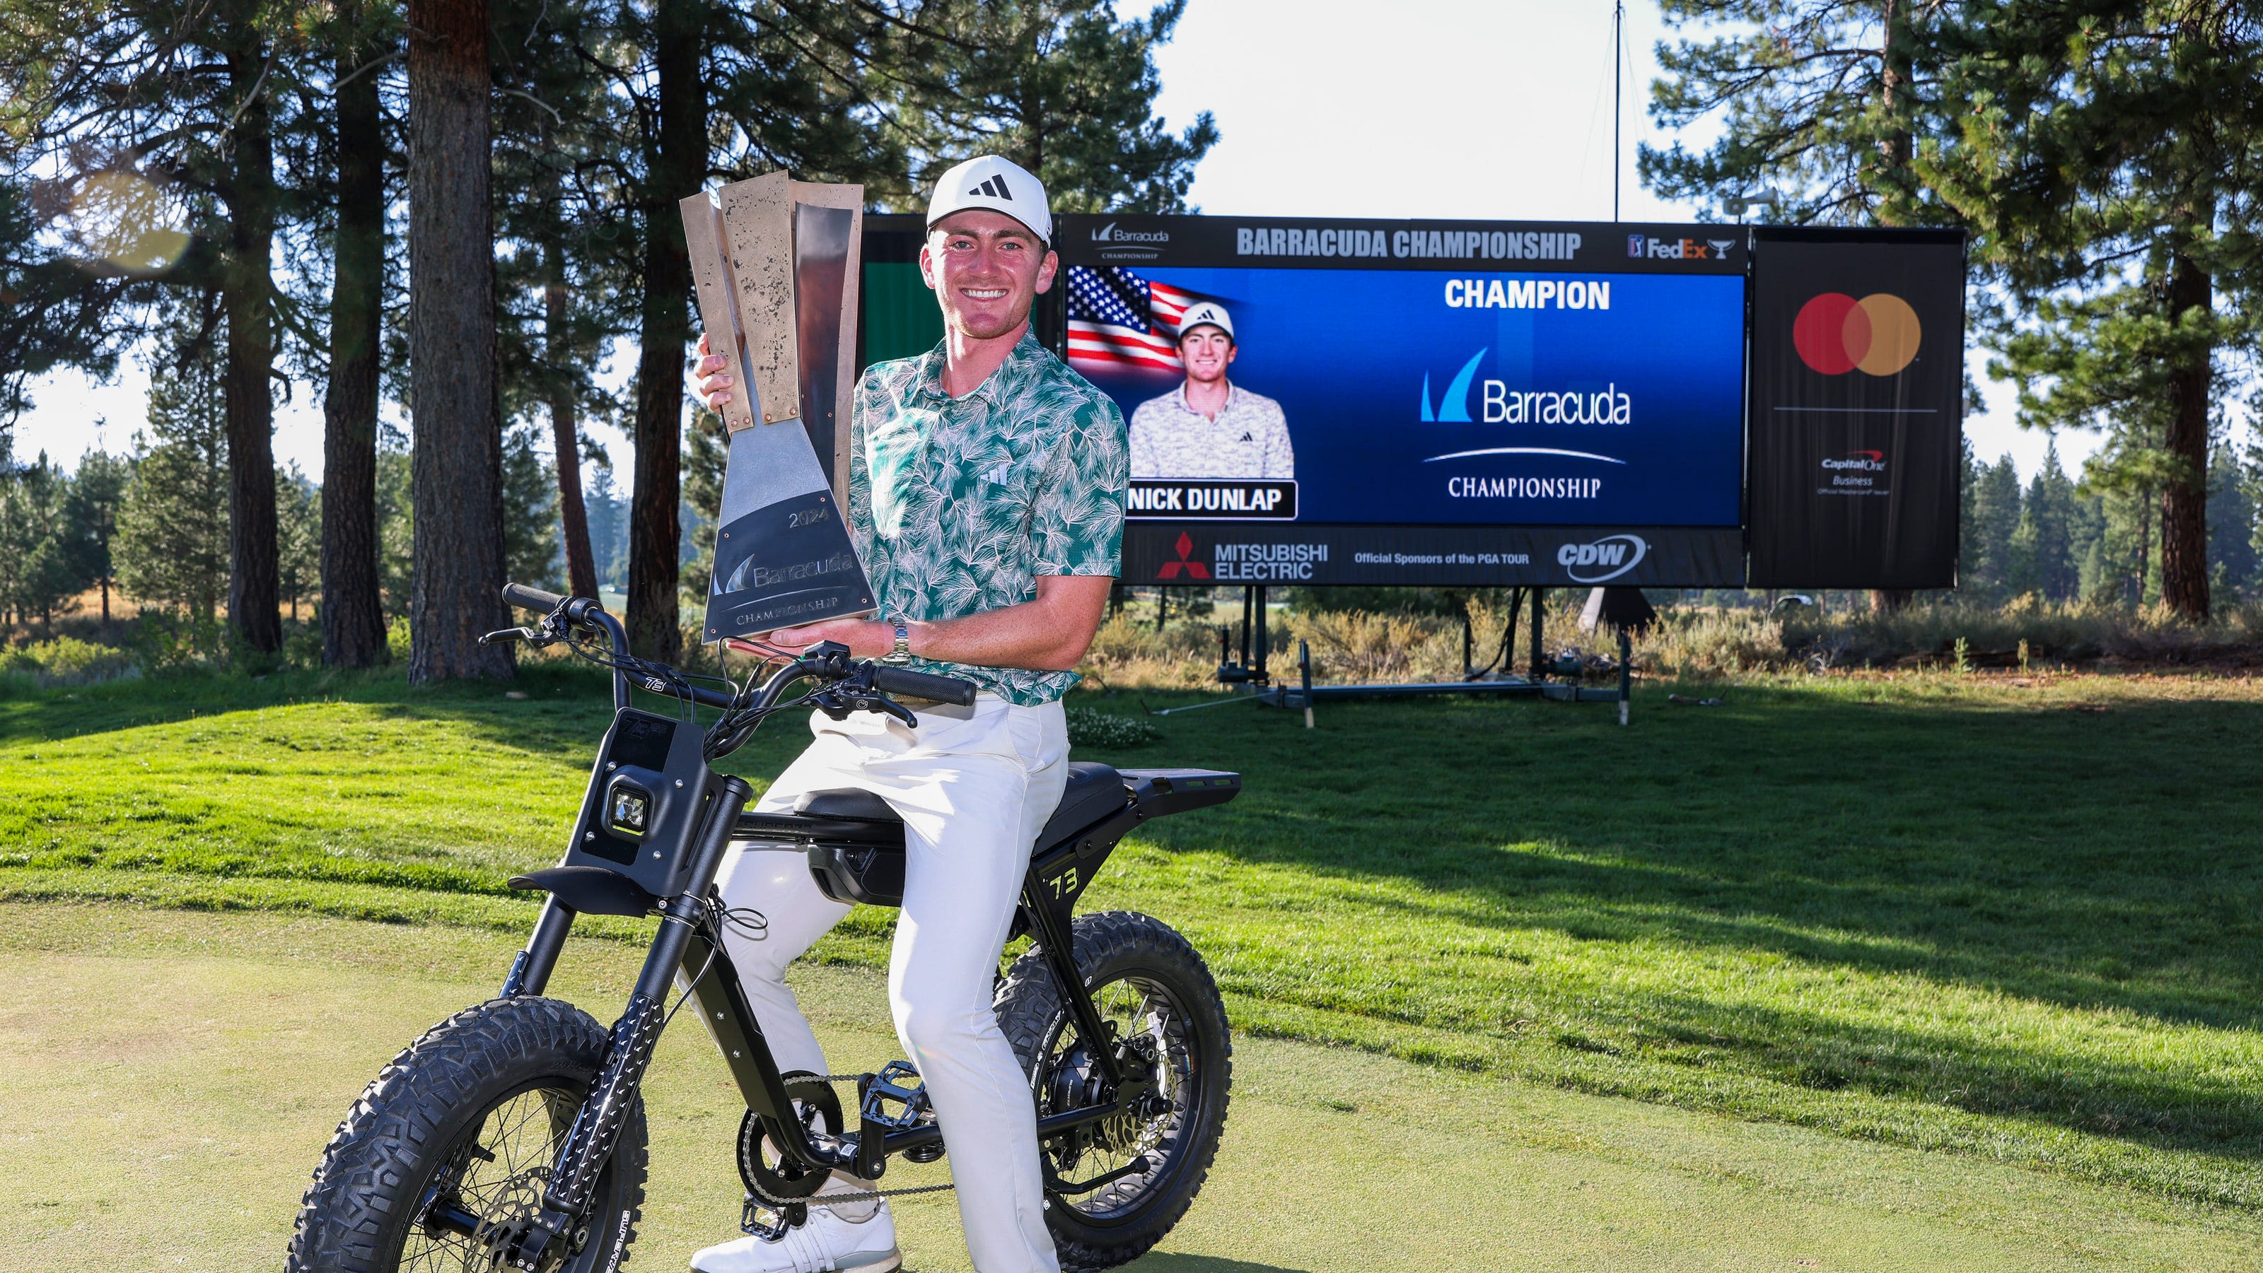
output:
[[[287, 1273], [487, 1271], [487, 1230], [541, 1210], [604, 1047], [606, 1029], [557, 999], [491, 999], [432, 1027], [378, 1072], [324, 1149]], [[638, 1101], [561, 1273], [620, 1268], [643, 1198]]]

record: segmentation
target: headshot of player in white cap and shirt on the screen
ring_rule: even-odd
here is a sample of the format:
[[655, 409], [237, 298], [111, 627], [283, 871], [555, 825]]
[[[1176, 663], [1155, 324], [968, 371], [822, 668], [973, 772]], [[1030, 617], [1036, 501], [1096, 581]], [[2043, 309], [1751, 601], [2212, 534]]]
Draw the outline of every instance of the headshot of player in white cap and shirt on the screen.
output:
[[1132, 477], [1294, 477], [1281, 402], [1227, 380], [1233, 317], [1188, 305], [1179, 319], [1186, 382], [1132, 412]]

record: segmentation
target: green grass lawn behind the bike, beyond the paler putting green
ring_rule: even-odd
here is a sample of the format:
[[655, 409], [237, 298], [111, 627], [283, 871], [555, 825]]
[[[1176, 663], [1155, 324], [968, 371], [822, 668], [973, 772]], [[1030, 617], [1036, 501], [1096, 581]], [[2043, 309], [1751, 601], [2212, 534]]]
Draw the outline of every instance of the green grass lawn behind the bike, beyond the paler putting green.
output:
[[[518, 927], [604, 726], [573, 669], [0, 701], [0, 895]], [[1120, 764], [1240, 769], [1093, 907], [1245, 1031], [2263, 1207], [2263, 685], [1709, 685], [1720, 708], [1229, 705]], [[1136, 710], [1129, 699], [1079, 699]], [[735, 762], [774, 773], [799, 721]], [[887, 913], [821, 947], [876, 961]]]

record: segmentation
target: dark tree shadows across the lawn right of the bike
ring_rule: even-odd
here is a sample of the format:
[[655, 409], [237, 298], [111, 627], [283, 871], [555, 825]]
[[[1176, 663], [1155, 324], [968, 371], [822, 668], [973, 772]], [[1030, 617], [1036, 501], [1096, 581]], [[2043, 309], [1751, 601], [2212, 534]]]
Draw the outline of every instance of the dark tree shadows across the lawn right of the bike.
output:
[[[2263, 701], [1727, 696], [1672, 710], [1647, 694], [1629, 730], [1555, 703], [1335, 705], [1313, 733], [1258, 708], [1204, 712], [1199, 728], [1172, 719], [1150, 751], [1242, 769], [1245, 794], [1141, 834], [1405, 882], [1356, 907], [1410, 920], [1776, 954], [2263, 1029]], [[1740, 1054], [1738, 1072], [1804, 1088], [2263, 1158], [2263, 1099], [2204, 1060], [1976, 1045], [1749, 1002], [1595, 1006], [1638, 1008], [1616, 1022], [1618, 1042], [1654, 1060], [1706, 1065], [1718, 1049]], [[1618, 1047], [1564, 1047], [1582, 1042]]]

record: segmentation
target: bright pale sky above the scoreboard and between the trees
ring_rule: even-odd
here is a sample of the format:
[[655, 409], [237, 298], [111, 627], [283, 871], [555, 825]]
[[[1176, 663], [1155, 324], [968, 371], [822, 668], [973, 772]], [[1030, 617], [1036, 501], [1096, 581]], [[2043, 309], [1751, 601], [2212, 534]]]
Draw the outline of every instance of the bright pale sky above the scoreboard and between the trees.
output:
[[[1125, 16], [1145, 0], [1120, 0]], [[1700, 219], [1641, 188], [1634, 147], [1672, 138], [1647, 120], [1657, 5], [1629, 2], [1623, 136], [1611, 151], [1609, 0], [1193, 0], [1156, 54], [1156, 113], [1174, 129], [1211, 111], [1222, 140], [1195, 170], [1204, 213], [1310, 217]], [[1706, 129], [1684, 133], [1702, 147]], [[2046, 436], [2012, 421], [2012, 387], [1969, 357], [1987, 400], [1964, 432], [1982, 459], [2010, 452], [2023, 477]], [[616, 360], [613, 373], [627, 373]], [[124, 448], [143, 423], [147, 378], [131, 362], [113, 384], [63, 373], [34, 389], [16, 452], [72, 464], [88, 445]], [[631, 448], [611, 430], [616, 473]], [[2096, 434], [2062, 434], [2068, 468]], [[321, 389], [276, 405], [276, 461], [321, 475]]]

